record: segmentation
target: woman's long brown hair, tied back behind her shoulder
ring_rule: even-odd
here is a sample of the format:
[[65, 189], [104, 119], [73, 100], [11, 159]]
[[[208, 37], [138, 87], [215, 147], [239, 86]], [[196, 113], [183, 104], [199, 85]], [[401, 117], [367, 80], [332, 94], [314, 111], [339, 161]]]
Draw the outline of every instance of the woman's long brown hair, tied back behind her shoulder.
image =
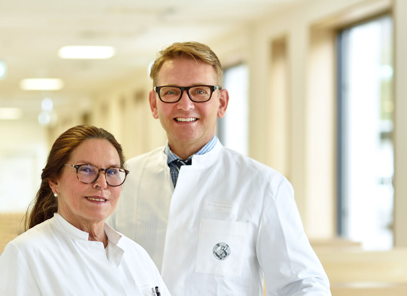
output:
[[92, 125], [77, 125], [62, 133], [55, 140], [47, 162], [42, 170], [41, 185], [35, 199], [28, 207], [25, 215], [24, 228], [28, 230], [37, 224], [53, 217], [58, 210], [57, 198], [49, 186], [49, 180], [58, 180], [62, 174], [63, 165], [69, 160], [72, 152], [79, 144], [88, 139], [108, 140], [117, 150], [120, 167], [125, 166], [125, 156], [122, 146], [114, 136], [103, 128]]

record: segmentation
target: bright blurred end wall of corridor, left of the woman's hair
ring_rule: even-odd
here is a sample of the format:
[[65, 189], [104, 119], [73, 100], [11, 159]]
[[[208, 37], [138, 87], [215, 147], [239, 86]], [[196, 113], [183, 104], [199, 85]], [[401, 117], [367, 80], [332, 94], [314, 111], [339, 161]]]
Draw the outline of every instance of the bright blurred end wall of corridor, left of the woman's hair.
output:
[[25, 212], [40, 183], [48, 132], [36, 122], [1, 120], [0, 213]]

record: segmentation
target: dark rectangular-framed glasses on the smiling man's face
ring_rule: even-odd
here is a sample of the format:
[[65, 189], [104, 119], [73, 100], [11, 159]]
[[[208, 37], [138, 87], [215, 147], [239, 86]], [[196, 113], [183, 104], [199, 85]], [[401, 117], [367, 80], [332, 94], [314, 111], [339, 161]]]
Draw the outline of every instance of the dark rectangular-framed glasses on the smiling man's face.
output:
[[154, 91], [164, 103], [175, 103], [181, 99], [182, 93], [186, 90], [189, 99], [196, 103], [204, 103], [210, 100], [212, 93], [219, 90], [219, 86], [155, 86]]

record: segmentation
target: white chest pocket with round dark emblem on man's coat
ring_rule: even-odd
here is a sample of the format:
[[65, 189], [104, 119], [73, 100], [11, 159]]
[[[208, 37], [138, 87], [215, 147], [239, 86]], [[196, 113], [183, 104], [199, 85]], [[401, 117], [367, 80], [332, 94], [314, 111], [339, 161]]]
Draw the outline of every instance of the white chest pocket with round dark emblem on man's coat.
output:
[[195, 272], [240, 277], [249, 223], [201, 219]]

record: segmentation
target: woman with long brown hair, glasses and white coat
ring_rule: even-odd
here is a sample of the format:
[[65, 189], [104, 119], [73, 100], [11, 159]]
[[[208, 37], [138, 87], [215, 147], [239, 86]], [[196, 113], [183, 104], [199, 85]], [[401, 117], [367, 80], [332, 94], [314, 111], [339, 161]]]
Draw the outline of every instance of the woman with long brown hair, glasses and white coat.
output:
[[147, 252], [105, 224], [129, 171], [104, 129], [55, 141], [26, 228], [0, 256], [0, 295], [169, 295]]

